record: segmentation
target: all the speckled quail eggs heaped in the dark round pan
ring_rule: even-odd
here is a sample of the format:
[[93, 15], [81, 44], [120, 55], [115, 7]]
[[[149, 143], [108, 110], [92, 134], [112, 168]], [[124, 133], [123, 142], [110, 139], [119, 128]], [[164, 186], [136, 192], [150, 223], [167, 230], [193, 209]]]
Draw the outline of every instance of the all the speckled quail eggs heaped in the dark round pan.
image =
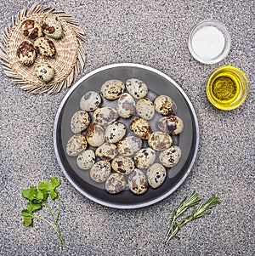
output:
[[136, 195], [144, 194], [149, 185], [156, 189], [166, 179], [166, 168], [181, 157], [172, 139], [184, 129], [182, 119], [174, 115], [177, 106], [167, 95], [150, 100], [148, 91], [136, 78], [126, 84], [106, 81], [100, 93], [82, 96], [81, 110], [71, 117], [73, 135], [66, 154], [76, 156], [77, 167], [89, 170], [90, 178], [105, 183], [111, 194], [126, 187]]

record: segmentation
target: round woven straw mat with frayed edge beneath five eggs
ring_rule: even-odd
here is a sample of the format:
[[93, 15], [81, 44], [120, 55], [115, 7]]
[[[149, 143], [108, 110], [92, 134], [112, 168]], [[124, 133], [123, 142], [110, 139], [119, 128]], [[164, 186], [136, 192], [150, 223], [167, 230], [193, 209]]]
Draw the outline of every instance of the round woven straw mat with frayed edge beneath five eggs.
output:
[[[17, 58], [17, 48], [27, 38], [21, 31], [21, 24], [27, 19], [39, 22], [45, 14], [56, 15], [63, 28], [63, 37], [50, 38], [54, 42], [57, 54], [54, 59], [44, 58], [38, 54], [33, 65], [22, 65]], [[0, 62], [5, 74], [20, 88], [32, 94], [58, 93], [62, 88], [70, 87], [74, 77], [85, 65], [86, 54], [81, 44], [81, 41], [85, 41], [84, 32], [72, 19], [71, 14], [55, 12], [49, 7], [34, 4], [31, 9], [20, 10], [16, 17], [13, 17], [12, 24], [5, 28], [2, 41]], [[34, 66], [41, 62], [46, 62], [54, 68], [55, 76], [51, 82], [42, 82], [35, 75]]]

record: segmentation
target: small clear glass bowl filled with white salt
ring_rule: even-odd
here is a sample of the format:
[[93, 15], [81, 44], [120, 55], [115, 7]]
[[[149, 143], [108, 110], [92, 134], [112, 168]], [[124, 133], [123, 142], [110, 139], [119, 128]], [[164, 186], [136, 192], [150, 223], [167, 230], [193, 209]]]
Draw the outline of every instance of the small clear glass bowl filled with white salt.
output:
[[214, 64], [229, 53], [230, 36], [218, 20], [202, 20], [190, 31], [188, 47], [195, 60]]

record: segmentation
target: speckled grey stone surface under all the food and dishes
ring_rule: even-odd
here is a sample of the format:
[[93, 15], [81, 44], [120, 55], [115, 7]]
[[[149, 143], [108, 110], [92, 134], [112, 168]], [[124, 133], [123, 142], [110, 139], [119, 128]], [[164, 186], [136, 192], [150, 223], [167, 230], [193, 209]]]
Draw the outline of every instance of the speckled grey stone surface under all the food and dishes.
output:
[[[1, 1], [0, 31], [32, 3]], [[20, 216], [26, 207], [21, 190], [55, 175], [62, 179], [63, 255], [254, 255], [254, 1], [38, 3], [73, 14], [87, 35], [87, 62], [76, 80], [103, 65], [133, 62], [178, 82], [194, 105], [200, 145], [188, 179], [165, 200], [136, 210], [102, 207], [72, 187], [54, 154], [54, 117], [66, 91], [28, 94], [1, 68], [0, 254], [59, 254], [50, 227], [35, 221], [26, 228]], [[223, 22], [232, 39], [228, 56], [214, 65], [197, 62], [187, 48], [190, 29], [205, 19]], [[235, 65], [249, 80], [246, 102], [234, 111], [219, 111], [205, 94], [207, 77], [222, 65]], [[172, 208], [193, 190], [204, 198], [216, 193], [221, 204], [165, 245]]]

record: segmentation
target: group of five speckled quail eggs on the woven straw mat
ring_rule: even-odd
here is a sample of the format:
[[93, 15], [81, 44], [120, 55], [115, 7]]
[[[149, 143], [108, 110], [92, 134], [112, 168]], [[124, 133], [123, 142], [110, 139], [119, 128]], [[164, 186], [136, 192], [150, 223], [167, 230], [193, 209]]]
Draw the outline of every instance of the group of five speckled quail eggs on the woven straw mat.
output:
[[[21, 64], [33, 65], [37, 54], [46, 60], [55, 57], [56, 48], [52, 38], [59, 39], [63, 36], [62, 25], [56, 16], [46, 14], [41, 22], [24, 20], [20, 29], [26, 37], [17, 48], [17, 58]], [[42, 82], [50, 82], [54, 79], [54, 68], [48, 65], [47, 61], [35, 65], [34, 71]]]

